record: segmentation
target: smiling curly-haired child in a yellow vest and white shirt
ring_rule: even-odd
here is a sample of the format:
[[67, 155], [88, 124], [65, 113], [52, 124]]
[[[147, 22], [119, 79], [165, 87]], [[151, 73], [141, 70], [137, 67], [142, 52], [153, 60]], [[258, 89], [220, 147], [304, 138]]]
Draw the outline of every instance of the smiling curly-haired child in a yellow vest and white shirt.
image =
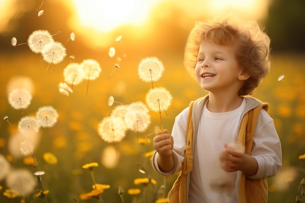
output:
[[[176, 116], [172, 135], [165, 129], [153, 139], [154, 169], [165, 176], [182, 170], [170, 203], [267, 203], [266, 178], [282, 166], [281, 143], [268, 104], [249, 95], [269, 71], [269, 44], [253, 20], [196, 22], [185, 66], [209, 94], [192, 107], [198, 119], [188, 118], [188, 107]], [[250, 110], [257, 106], [265, 107], [256, 119]]]

